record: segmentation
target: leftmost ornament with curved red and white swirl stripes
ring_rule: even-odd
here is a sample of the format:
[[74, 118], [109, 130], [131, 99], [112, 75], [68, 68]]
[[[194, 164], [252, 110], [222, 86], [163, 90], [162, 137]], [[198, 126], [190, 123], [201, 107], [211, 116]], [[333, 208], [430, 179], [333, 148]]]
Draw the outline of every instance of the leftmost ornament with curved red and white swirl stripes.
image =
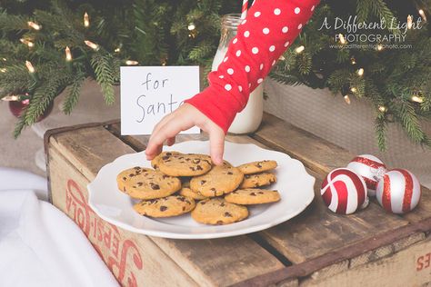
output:
[[368, 204], [366, 183], [347, 168], [337, 168], [327, 174], [320, 193], [326, 206], [334, 213], [355, 213]]

